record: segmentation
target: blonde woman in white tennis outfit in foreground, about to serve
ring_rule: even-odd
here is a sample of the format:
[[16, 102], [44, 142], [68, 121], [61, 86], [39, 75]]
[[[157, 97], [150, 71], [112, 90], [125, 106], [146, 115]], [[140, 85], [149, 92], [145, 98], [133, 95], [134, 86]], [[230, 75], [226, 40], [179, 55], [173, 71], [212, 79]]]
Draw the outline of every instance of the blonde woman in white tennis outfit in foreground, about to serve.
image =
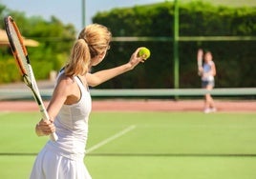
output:
[[143, 62], [142, 57], [138, 57], [138, 49], [128, 63], [90, 73], [90, 69], [104, 59], [111, 38], [111, 32], [97, 24], [79, 33], [68, 63], [56, 79], [47, 108], [51, 120], [40, 120], [35, 127], [38, 136], [55, 131], [58, 140], [49, 140], [39, 152], [31, 179], [91, 179], [83, 162], [92, 109], [89, 86], [95, 87]]

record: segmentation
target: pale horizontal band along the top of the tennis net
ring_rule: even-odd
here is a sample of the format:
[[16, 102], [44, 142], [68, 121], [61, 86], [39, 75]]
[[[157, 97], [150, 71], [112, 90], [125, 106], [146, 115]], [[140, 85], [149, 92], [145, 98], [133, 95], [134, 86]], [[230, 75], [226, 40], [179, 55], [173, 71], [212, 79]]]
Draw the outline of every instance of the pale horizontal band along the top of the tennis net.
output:
[[[43, 98], [50, 98], [53, 89], [41, 89]], [[173, 96], [203, 96], [210, 93], [214, 96], [256, 96], [256, 88], [226, 88], [226, 89], [91, 89], [94, 97], [173, 97]], [[30, 99], [30, 89], [0, 89], [0, 100]]]

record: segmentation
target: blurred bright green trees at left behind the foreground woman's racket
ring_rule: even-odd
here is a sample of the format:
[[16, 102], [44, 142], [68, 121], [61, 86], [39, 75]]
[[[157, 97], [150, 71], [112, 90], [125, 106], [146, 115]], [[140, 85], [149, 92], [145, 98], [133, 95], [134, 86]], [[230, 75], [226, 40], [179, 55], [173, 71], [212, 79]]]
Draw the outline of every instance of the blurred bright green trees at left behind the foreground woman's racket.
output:
[[[0, 5], [0, 17], [4, 19], [6, 15], [11, 15], [15, 20], [22, 35], [39, 42], [36, 48], [28, 47], [29, 56], [37, 79], [46, 79], [52, 70], [59, 70], [65, 65], [69, 57], [69, 50], [75, 40], [75, 27], [71, 24], [64, 25], [59, 19], [52, 16], [47, 21], [40, 16], [27, 17], [25, 12], [9, 10]], [[4, 29], [4, 22], [0, 21], [0, 27]], [[11, 62], [11, 50], [2, 48], [0, 63], [3, 68], [7, 62]], [[9, 63], [10, 64], [10, 63]], [[14, 66], [14, 63], [11, 63]], [[10, 65], [9, 65], [10, 67]], [[6, 70], [16, 68], [6, 68]], [[6, 73], [12, 73], [7, 71]], [[17, 81], [19, 78], [1, 80], [1, 82]]]

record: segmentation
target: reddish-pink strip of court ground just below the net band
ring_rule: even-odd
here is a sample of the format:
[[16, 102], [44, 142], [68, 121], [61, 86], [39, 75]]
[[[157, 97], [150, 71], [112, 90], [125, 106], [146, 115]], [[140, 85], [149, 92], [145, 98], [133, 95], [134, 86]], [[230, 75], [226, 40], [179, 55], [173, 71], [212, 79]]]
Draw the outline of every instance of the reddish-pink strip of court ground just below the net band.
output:
[[[218, 111], [256, 111], [255, 100], [216, 100], [215, 103]], [[37, 109], [34, 101], [0, 101], [0, 110]], [[203, 100], [93, 100], [93, 111], [203, 111]]]

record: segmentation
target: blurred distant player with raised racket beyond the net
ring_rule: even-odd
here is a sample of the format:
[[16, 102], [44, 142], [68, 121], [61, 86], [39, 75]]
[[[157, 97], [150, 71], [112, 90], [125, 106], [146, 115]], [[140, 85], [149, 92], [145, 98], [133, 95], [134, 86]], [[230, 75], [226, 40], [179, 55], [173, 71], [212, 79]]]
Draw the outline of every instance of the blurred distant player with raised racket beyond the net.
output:
[[[213, 62], [213, 56], [211, 51], [198, 50], [198, 62], [203, 61], [202, 65], [198, 66], [199, 75], [202, 79], [202, 88], [211, 90], [214, 88], [215, 81], [214, 76], [216, 75], [216, 67]], [[200, 63], [199, 63], [200, 64]], [[205, 113], [216, 111], [214, 100], [210, 93], [204, 95], [204, 109]]]

